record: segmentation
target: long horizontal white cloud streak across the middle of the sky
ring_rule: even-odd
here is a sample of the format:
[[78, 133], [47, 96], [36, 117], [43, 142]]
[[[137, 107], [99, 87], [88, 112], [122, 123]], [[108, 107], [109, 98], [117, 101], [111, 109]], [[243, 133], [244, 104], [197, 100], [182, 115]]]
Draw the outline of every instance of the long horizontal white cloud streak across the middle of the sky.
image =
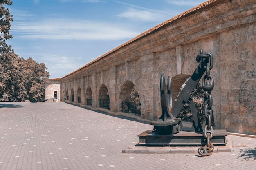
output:
[[120, 40], [139, 34], [114, 23], [62, 18], [18, 21], [13, 24], [12, 33], [18, 38], [66, 40]]

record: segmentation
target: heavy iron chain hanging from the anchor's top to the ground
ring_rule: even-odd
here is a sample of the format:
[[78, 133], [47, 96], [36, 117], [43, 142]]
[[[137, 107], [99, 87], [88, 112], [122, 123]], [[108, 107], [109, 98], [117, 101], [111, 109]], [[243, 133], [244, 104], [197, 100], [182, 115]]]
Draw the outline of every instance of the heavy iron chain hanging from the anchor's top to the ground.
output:
[[[204, 116], [206, 117], [206, 126], [204, 127], [204, 138], [207, 140], [207, 144], [198, 149], [198, 153], [202, 156], [209, 156], [212, 154], [214, 145], [211, 143], [213, 137], [213, 127], [211, 126], [211, 119], [213, 116], [212, 110], [212, 97], [211, 91], [214, 87], [213, 77], [210, 75], [210, 70], [213, 66], [213, 57], [210, 53], [202, 54], [200, 49], [200, 55], [197, 55], [197, 62], [201, 61], [201, 69], [205, 70], [205, 75], [202, 79], [202, 88], [204, 89]], [[207, 64], [210, 62], [210, 66]], [[203, 64], [206, 63], [206, 64]]]

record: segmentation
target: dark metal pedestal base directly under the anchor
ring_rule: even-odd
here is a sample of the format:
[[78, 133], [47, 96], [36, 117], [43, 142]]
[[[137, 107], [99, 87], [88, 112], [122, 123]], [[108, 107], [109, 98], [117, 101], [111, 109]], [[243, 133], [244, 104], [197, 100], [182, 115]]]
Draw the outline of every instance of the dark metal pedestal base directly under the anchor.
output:
[[[225, 146], [227, 131], [214, 130], [211, 143], [214, 145]], [[147, 130], [140, 135], [139, 144], [141, 145], [170, 145], [170, 146], [202, 146], [206, 144], [206, 139], [202, 133], [181, 131], [172, 135], [159, 135], [152, 130]]]

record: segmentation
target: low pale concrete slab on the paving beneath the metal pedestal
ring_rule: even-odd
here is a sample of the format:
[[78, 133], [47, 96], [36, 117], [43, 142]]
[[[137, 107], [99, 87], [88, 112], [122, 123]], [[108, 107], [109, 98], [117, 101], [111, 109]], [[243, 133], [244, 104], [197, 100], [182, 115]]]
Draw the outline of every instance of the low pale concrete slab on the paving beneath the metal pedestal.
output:
[[[213, 153], [216, 152], [233, 152], [233, 147], [229, 136], [226, 137], [226, 146], [214, 146]], [[145, 146], [141, 144], [134, 144], [124, 149], [122, 153], [142, 153], [142, 154], [166, 154], [166, 153], [198, 153], [198, 148], [201, 146]]]

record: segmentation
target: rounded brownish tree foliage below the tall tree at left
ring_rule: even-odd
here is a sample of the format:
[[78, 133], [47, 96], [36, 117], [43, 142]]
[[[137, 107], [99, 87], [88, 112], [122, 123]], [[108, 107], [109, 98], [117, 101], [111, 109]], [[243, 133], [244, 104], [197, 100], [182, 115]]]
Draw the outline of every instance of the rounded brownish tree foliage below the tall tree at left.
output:
[[43, 79], [49, 78], [44, 63], [24, 59], [14, 52], [0, 55], [0, 98], [31, 102], [43, 101]]

